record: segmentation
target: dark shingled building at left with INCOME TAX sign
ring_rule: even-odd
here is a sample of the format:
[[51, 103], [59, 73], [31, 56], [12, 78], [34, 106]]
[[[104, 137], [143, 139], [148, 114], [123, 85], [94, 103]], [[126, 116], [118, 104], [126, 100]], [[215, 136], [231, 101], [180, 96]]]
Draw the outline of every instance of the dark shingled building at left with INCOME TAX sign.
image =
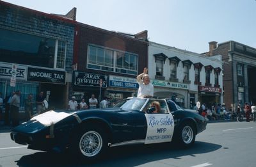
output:
[[0, 91], [34, 100], [44, 91], [50, 108], [65, 108], [72, 81], [74, 20], [0, 1]]

